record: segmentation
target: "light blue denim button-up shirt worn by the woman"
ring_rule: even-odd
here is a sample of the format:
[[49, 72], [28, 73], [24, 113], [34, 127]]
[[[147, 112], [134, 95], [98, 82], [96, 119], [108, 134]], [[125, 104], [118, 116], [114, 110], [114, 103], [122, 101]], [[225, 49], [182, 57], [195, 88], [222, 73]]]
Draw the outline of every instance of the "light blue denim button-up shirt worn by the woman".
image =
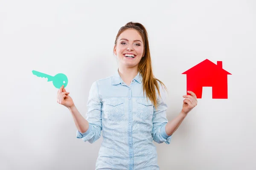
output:
[[93, 143], [102, 133], [96, 170], [159, 170], [153, 140], [171, 141], [165, 130], [167, 105], [158, 96], [156, 110], [143, 95], [142, 85], [140, 73], [125, 85], [118, 71], [93, 82], [86, 113], [89, 129], [77, 130], [76, 137]]

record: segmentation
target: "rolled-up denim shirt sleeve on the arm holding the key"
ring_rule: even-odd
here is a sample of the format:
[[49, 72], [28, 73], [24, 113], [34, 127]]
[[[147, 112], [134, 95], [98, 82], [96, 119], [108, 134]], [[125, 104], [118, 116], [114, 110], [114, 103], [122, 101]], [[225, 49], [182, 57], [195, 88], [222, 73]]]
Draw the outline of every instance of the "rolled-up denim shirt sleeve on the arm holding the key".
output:
[[76, 138], [83, 139], [84, 142], [94, 143], [100, 138], [102, 132], [102, 102], [99, 97], [99, 86], [93, 82], [87, 102], [86, 120], [89, 122], [89, 128], [86, 132], [76, 131]]

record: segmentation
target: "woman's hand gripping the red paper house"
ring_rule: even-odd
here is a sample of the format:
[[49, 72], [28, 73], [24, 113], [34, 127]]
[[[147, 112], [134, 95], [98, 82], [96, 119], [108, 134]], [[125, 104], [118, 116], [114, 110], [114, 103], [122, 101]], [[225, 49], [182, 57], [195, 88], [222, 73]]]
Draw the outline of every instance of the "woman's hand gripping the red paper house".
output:
[[195, 108], [198, 103], [195, 93], [192, 91], [188, 91], [188, 93], [191, 95], [183, 95], [183, 97], [186, 97], [186, 99], [183, 100], [181, 112], [185, 114], [189, 113], [193, 108]]

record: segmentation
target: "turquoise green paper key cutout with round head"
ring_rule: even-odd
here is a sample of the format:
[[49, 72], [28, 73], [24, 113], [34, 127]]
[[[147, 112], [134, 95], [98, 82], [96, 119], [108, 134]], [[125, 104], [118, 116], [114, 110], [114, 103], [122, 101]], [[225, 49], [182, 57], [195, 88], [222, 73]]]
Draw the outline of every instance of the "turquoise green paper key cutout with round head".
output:
[[48, 79], [47, 82], [52, 81], [52, 84], [54, 85], [55, 88], [61, 88], [62, 85], [64, 85], [64, 88], [67, 86], [68, 79], [65, 74], [58, 73], [55, 76], [50, 76], [48, 74], [44, 74], [44, 73], [41, 73], [41, 72], [35, 71], [35, 70], [33, 70], [32, 73], [34, 75], [36, 75], [37, 77], [47, 78]]

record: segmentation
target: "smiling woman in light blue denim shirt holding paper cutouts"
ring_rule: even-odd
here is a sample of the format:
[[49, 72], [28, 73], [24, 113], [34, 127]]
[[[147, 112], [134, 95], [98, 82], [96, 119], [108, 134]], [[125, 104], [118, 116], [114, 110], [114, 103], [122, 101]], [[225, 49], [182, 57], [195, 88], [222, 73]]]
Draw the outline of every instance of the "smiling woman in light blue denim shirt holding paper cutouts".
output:
[[79, 113], [63, 86], [57, 102], [70, 109], [77, 138], [93, 143], [103, 136], [96, 170], [158, 170], [157, 143], [169, 144], [180, 123], [197, 105], [193, 92], [184, 95], [183, 108], [168, 122], [161, 98], [165, 85], [152, 72], [148, 34], [140, 23], [120, 28], [113, 49], [119, 67], [116, 74], [93, 82], [87, 118]]

